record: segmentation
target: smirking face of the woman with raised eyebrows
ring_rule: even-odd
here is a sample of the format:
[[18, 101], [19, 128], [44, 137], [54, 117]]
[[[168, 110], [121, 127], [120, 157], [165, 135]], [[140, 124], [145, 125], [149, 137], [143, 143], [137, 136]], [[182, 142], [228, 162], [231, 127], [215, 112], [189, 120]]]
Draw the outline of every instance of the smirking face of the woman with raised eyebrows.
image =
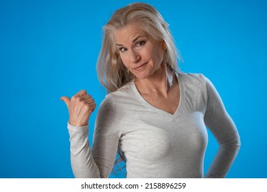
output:
[[115, 31], [119, 56], [130, 72], [139, 79], [146, 79], [161, 69], [166, 45], [143, 32], [138, 23], [126, 25]]

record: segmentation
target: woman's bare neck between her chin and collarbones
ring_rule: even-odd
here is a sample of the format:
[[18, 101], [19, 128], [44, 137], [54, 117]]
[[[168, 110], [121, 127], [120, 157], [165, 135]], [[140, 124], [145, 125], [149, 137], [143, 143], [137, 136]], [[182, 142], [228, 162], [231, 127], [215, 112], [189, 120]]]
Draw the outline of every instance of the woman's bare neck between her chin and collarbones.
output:
[[135, 80], [135, 85], [141, 95], [160, 94], [167, 97], [170, 88], [176, 81], [175, 74], [167, 69], [166, 64], [162, 64], [161, 68], [150, 77], [143, 80]]

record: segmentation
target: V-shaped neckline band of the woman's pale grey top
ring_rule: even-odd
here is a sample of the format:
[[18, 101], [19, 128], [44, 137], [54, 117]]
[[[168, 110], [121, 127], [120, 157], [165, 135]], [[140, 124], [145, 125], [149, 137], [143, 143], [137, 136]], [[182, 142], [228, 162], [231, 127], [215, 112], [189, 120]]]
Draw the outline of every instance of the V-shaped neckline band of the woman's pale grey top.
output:
[[181, 73], [175, 73], [176, 78], [178, 80], [178, 86], [180, 89], [180, 99], [179, 99], [179, 104], [178, 107], [176, 108], [176, 111], [174, 114], [171, 114], [170, 112], [167, 112], [165, 110], [162, 110], [160, 108], [156, 108], [155, 106], [152, 106], [146, 99], [142, 97], [142, 95], [139, 93], [137, 86], [135, 86], [135, 82], [132, 83], [132, 91], [135, 93], [135, 96], [137, 99], [143, 104], [143, 106], [146, 106], [146, 108], [149, 108], [150, 110], [154, 110], [155, 112], [161, 113], [162, 115], [165, 115], [166, 117], [170, 117], [171, 119], [176, 119], [179, 115], [181, 115], [181, 112], [183, 110], [183, 105], [184, 105], [184, 86], [183, 86], [183, 81], [181, 80]]

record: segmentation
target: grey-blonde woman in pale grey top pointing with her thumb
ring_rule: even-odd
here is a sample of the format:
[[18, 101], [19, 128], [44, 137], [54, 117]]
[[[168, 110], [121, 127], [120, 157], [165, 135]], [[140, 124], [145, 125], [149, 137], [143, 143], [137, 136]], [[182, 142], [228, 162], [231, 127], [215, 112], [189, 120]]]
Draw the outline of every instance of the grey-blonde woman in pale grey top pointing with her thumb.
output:
[[127, 178], [203, 178], [205, 125], [220, 144], [205, 177], [227, 174], [240, 148], [235, 124], [207, 77], [178, 72], [177, 58], [167, 23], [151, 5], [132, 3], [113, 14], [97, 64], [109, 94], [97, 112], [91, 149], [94, 100], [84, 90], [61, 97], [76, 178], [108, 178], [118, 149]]

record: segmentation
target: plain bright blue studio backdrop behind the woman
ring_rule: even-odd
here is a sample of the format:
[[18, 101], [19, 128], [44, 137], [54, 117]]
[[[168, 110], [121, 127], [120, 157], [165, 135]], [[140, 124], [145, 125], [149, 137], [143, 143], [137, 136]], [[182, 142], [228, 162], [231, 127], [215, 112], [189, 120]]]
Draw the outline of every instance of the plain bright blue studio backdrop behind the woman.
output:
[[[0, 178], [73, 178], [60, 96], [85, 88], [99, 106], [102, 26], [130, 2], [0, 1]], [[143, 2], [170, 23], [182, 71], [209, 77], [237, 125], [227, 178], [267, 178], [266, 1]], [[217, 149], [209, 135], [205, 171]]]

